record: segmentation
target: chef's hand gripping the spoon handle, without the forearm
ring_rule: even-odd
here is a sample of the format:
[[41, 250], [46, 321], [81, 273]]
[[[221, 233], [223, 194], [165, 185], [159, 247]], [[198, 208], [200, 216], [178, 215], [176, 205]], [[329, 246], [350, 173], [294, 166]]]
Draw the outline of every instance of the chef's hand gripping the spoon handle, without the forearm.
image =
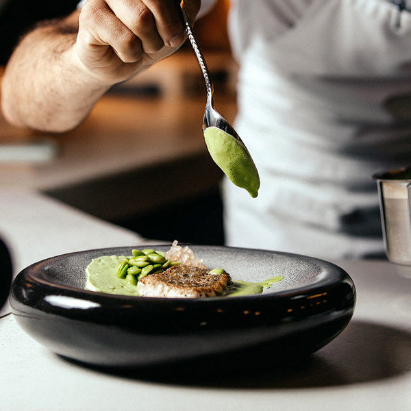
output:
[[[185, 0], [194, 19], [200, 0]], [[99, 82], [115, 84], [176, 51], [186, 36], [180, 0], [88, 0], [73, 49]]]

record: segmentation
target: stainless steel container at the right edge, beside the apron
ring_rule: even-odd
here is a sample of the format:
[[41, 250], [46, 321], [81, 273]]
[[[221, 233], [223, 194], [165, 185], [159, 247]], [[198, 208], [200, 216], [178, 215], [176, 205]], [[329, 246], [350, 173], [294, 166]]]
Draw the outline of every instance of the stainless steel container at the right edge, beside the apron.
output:
[[390, 262], [411, 266], [411, 166], [373, 175], [386, 256]]

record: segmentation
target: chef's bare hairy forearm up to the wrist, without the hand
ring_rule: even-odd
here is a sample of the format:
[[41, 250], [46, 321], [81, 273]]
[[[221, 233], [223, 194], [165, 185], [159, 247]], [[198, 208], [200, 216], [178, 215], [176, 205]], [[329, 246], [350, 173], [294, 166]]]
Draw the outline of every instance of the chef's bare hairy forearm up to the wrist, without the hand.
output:
[[6, 67], [1, 90], [10, 123], [48, 132], [77, 126], [110, 88], [74, 52], [75, 23], [50, 23], [27, 34]]

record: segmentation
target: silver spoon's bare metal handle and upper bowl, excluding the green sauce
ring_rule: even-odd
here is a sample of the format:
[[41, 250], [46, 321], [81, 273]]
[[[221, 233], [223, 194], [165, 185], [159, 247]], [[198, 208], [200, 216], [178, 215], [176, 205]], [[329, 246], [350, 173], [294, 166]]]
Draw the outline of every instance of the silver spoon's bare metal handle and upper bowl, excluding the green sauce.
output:
[[206, 110], [204, 112], [204, 117], [203, 117], [203, 130], [205, 130], [208, 127], [212, 127], [212, 126], [217, 127], [223, 130], [223, 132], [226, 132], [230, 136], [233, 136], [234, 138], [236, 138], [236, 140], [238, 140], [238, 142], [240, 142], [245, 147], [244, 142], [242, 142], [240, 136], [238, 136], [238, 134], [236, 133], [236, 130], [214, 108], [214, 103], [213, 103], [214, 86], [212, 84], [210, 71], [208, 70], [206, 60], [204, 60], [203, 53], [199, 47], [197, 38], [194, 34], [194, 30], [192, 29], [192, 25], [187, 16], [186, 8], [184, 7], [184, 1], [181, 2], [181, 8], [182, 8], [182, 14], [184, 18], [184, 23], [186, 25], [185, 29], [186, 29], [186, 33], [188, 36], [188, 40], [190, 40], [192, 49], [194, 50], [197, 60], [199, 62], [201, 73], [203, 73], [204, 81], [206, 82], [207, 103], [206, 103]]

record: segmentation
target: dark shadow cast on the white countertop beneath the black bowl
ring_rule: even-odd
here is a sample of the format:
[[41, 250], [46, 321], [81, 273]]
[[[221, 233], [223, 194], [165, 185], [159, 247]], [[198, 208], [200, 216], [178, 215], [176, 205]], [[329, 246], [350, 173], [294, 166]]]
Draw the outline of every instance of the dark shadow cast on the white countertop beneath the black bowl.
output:
[[204, 388], [264, 390], [345, 386], [411, 371], [411, 333], [386, 325], [352, 321], [332, 343], [307, 358], [282, 364], [278, 363], [281, 356], [281, 351], [273, 352], [271, 358], [260, 358], [247, 367], [242, 367], [240, 358], [237, 364], [227, 362], [225, 372], [221, 372], [219, 359], [218, 373], [213, 372], [212, 359], [207, 359], [207, 364], [191, 360], [173, 366], [125, 371], [91, 368], [127, 379]]

